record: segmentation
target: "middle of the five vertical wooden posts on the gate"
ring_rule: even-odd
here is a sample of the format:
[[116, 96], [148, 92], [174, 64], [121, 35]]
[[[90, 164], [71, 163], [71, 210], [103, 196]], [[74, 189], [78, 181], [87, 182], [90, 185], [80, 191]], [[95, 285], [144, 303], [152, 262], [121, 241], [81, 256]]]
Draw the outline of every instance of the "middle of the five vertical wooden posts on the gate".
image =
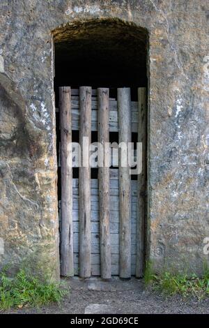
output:
[[103, 167], [98, 167], [100, 195], [101, 277], [111, 278], [111, 241], [109, 228], [109, 167], [105, 167], [105, 143], [109, 142], [109, 89], [98, 88], [98, 142], [103, 146]]

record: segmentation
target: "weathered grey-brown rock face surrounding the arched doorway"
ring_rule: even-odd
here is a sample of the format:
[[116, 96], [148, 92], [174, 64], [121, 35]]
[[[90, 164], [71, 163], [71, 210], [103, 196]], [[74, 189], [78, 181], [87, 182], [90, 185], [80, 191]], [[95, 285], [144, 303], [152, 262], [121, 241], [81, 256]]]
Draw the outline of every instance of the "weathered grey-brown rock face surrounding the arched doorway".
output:
[[148, 258], [156, 270], [201, 273], [209, 237], [206, 4], [1, 0], [1, 267], [59, 277], [53, 33], [105, 18], [149, 36]]

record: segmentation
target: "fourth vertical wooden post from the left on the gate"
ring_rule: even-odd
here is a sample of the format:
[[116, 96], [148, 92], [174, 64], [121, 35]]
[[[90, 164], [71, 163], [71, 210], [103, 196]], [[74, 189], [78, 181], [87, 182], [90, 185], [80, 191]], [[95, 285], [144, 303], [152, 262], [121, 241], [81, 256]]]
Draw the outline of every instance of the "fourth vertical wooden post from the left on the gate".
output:
[[[118, 89], [119, 144], [131, 142], [130, 88]], [[120, 202], [120, 277], [131, 276], [131, 176], [130, 167], [122, 166], [128, 151], [119, 149], [119, 202]], [[128, 161], [127, 161], [128, 164]]]

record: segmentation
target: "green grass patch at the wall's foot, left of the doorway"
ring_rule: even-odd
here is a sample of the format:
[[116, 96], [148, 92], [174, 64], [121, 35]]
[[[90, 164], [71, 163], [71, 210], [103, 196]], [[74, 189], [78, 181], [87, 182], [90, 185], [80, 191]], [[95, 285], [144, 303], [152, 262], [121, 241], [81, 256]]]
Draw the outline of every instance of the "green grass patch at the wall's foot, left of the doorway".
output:
[[0, 310], [24, 306], [44, 306], [52, 302], [60, 304], [66, 294], [60, 283], [40, 281], [39, 278], [20, 270], [15, 278], [0, 273]]

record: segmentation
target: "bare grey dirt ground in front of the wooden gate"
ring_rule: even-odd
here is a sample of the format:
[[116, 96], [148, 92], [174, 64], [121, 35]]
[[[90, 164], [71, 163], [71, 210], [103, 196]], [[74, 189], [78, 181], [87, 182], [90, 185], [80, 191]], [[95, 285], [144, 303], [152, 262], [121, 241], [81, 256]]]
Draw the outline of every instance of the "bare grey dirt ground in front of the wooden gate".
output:
[[61, 306], [23, 308], [7, 313], [209, 313], [209, 299], [198, 301], [194, 298], [165, 298], [147, 290], [141, 280], [134, 278], [130, 281], [114, 278], [111, 282], [96, 278], [86, 281], [71, 278], [65, 283], [70, 292]]

